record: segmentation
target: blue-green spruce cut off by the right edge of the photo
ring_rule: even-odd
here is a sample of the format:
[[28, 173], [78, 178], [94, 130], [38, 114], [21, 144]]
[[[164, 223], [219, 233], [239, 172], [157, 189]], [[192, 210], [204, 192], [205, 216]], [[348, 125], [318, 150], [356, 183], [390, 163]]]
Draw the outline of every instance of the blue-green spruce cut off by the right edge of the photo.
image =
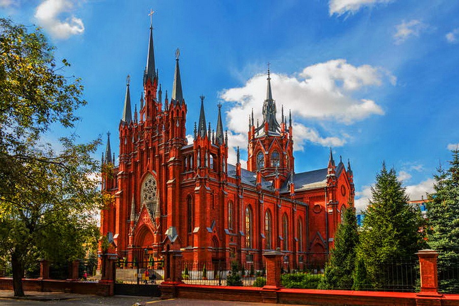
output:
[[446, 279], [450, 265], [459, 264], [459, 150], [452, 150], [449, 169], [441, 166], [435, 175], [435, 193], [427, 202], [428, 244], [439, 252], [441, 290], [459, 289], [457, 277]]

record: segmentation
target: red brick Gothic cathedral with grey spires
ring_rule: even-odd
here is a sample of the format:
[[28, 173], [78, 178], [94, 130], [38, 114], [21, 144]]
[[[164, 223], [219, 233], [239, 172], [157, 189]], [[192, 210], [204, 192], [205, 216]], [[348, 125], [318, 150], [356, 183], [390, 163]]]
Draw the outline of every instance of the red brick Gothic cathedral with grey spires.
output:
[[[261, 262], [280, 249], [285, 261], [324, 261], [344, 210], [354, 201], [352, 171], [333, 155], [326, 167], [294, 171], [292, 117], [277, 120], [268, 70], [263, 121], [249, 117], [247, 170], [228, 159], [218, 107], [211, 129], [200, 97], [194, 140], [187, 141], [188, 104], [176, 52], [170, 99], [162, 97], [155, 68], [152, 28], [143, 76], [144, 98], [132, 115], [129, 81], [119, 123], [119, 165], [103, 175], [114, 201], [101, 212], [101, 234], [113, 235], [127, 260], [159, 258], [163, 245], [179, 246], [186, 261]], [[191, 107], [198, 107], [192, 99]], [[217, 113], [217, 112], [216, 112]], [[109, 135], [110, 136], [110, 135]], [[110, 139], [103, 163], [115, 163]]]

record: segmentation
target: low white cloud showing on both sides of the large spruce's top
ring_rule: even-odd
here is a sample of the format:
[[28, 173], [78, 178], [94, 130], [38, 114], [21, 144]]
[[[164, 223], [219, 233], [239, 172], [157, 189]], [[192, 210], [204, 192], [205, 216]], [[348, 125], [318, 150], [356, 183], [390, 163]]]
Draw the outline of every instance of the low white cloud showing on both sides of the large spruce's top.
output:
[[[398, 174], [398, 179], [400, 179], [400, 174], [402, 174], [404, 171], [400, 171]], [[411, 177], [409, 173], [404, 172], [408, 176]], [[426, 193], [432, 193], [433, 192], [433, 183], [435, 181], [433, 179], [427, 179], [425, 181], [422, 181], [419, 184], [416, 185], [408, 185], [405, 186], [406, 188], [406, 194], [410, 197], [410, 200], [419, 200], [421, 199], [422, 196], [426, 196]], [[355, 192], [355, 210], [356, 212], [361, 212], [362, 210], [365, 210], [368, 206], [369, 199], [371, 198], [371, 187], [370, 186], [363, 186], [362, 191], [357, 191]]]

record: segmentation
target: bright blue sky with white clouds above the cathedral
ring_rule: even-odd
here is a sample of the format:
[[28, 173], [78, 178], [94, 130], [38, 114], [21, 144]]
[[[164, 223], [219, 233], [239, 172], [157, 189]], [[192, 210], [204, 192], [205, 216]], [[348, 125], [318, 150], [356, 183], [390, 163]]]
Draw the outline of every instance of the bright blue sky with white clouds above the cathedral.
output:
[[[247, 115], [254, 108], [261, 118], [270, 62], [279, 120], [281, 105], [292, 109], [296, 172], [326, 167], [333, 147], [336, 160], [350, 159], [358, 207], [383, 160], [416, 199], [459, 142], [455, 1], [0, 0], [0, 15], [43, 27], [56, 57], [72, 64], [65, 74], [83, 79], [82, 141], [117, 134], [128, 73], [138, 103], [150, 9], [163, 95], [181, 50], [188, 134], [204, 94], [206, 118], [215, 127], [222, 103], [230, 146], [245, 148]], [[73, 132], [55, 126], [46, 139]]]

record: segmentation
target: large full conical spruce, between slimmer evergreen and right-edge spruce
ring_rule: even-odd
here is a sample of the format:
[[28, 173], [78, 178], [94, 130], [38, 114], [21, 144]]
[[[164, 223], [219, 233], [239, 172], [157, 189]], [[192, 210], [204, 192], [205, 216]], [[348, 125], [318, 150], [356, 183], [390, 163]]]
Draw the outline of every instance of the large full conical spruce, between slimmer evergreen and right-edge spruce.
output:
[[419, 209], [408, 203], [409, 198], [395, 170], [388, 171], [384, 163], [376, 174], [371, 192], [359, 236], [358, 258], [365, 263], [369, 281], [380, 288], [389, 279], [397, 281], [395, 275], [383, 273], [389, 265], [413, 257], [425, 246], [424, 221]]

